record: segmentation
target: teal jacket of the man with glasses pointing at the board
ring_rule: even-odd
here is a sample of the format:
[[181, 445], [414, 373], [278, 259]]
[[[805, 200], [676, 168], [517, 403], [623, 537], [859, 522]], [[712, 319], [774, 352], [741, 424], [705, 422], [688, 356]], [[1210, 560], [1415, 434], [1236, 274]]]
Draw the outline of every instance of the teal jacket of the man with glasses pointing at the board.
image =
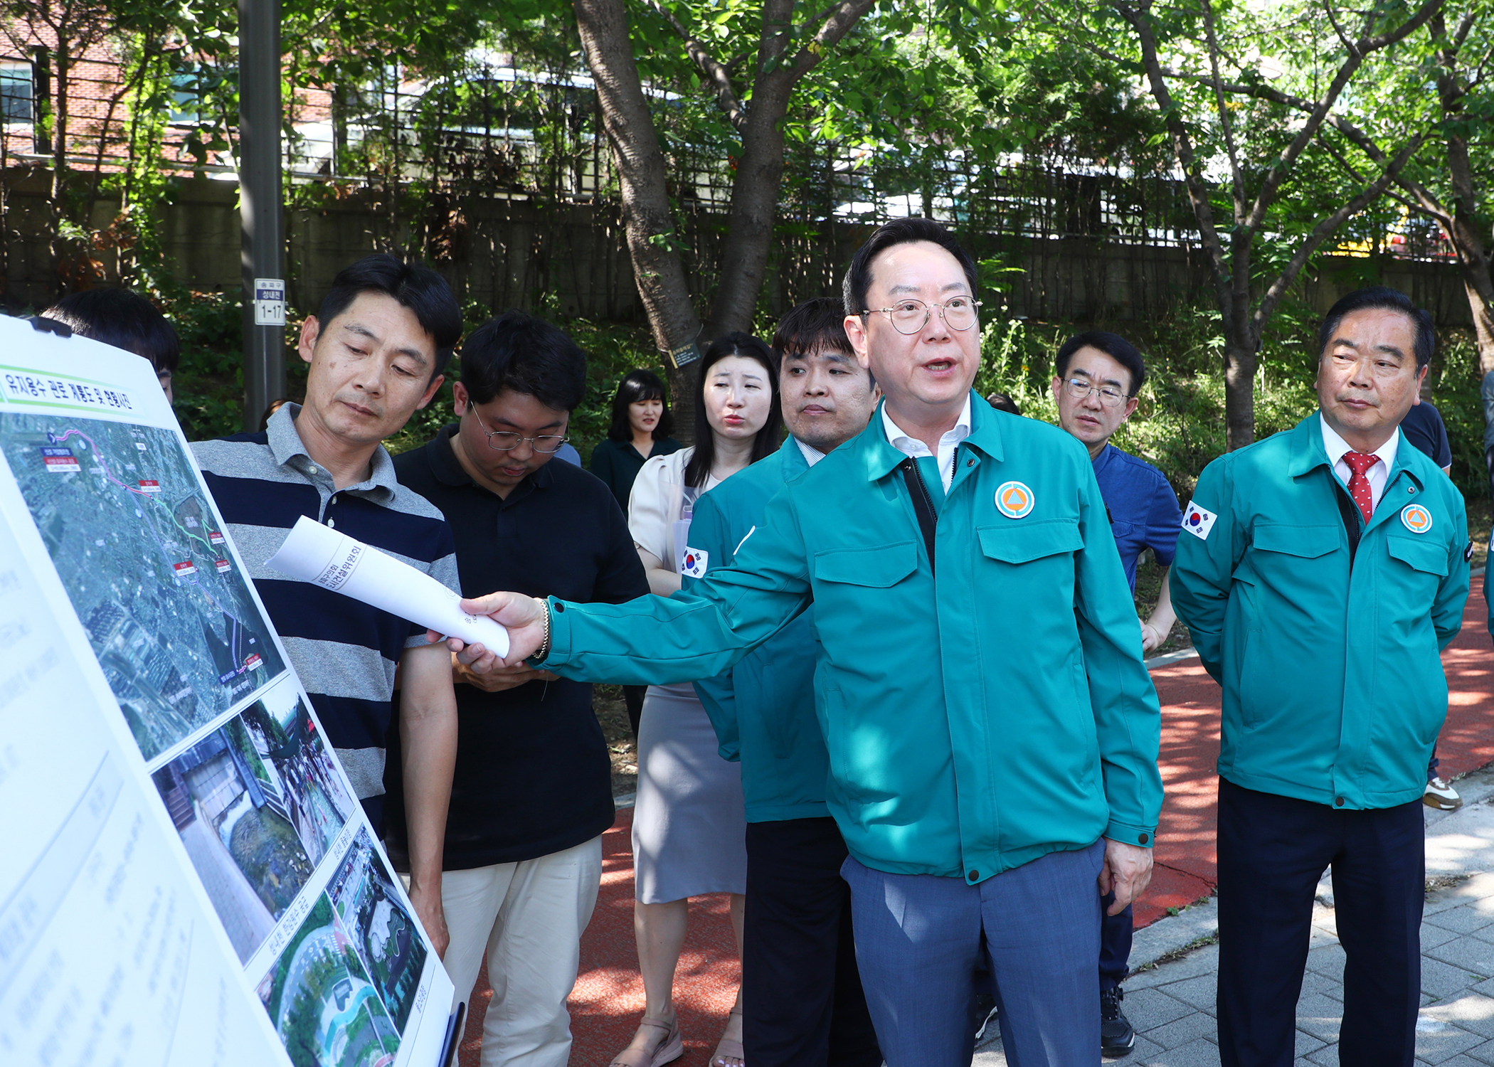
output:
[[971, 421], [937, 577], [874, 417], [690, 593], [551, 599], [544, 667], [710, 678], [813, 602], [826, 800], [862, 864], [977, 883], [1101, 834], [1150, 846], [1161, 714], [1089, 453], [974, 395]]

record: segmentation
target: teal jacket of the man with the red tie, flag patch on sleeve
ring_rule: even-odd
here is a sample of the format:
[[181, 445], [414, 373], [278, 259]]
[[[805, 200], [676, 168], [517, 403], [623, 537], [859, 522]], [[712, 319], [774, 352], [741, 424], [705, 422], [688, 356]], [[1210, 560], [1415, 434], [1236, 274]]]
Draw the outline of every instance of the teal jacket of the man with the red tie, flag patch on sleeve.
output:
[[[1316, 414], [1213, 460], [1177, 538], [1173, 607], [1224, 687], [1222, 777], [1392, 807], [1421, 797], [1448, 711], [1439, 653], [1463, 625], [1467, 516], [1401, 435], [1369, 525], [1352, 511], [1351, 569], [1340, 493]], [[1194, 523], [1197, 508], [1215, 519]]]

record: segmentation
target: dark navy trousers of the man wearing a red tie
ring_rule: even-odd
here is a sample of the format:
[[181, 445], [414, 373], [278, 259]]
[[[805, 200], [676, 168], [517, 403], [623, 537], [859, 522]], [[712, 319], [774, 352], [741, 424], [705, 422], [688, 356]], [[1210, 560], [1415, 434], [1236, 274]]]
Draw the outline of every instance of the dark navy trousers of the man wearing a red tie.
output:
[[1219, 780], [1219, 1060], [1291, 1067], [1312, 904], [1333, 868], [1339, 1063], [1410, 1067], [1421, 1004], [1421, 800], [1349, 811]]

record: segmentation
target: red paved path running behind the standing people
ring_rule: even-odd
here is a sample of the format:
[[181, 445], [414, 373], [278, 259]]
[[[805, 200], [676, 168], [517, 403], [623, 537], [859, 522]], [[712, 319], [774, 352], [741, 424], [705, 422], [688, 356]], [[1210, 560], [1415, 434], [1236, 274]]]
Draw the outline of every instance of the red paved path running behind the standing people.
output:
[[[1463, 617], [1463, 634], [1443, 653], [1448, 672], [1448, 723], [1437, 755], [1448, 777], [1494, 762], [1494, 675], [1482, 581]], [[1138, 927], [1170, 907], [1207, 897], [1215, 885], [1215, 804], [1219, 756], [1219, 687], [1197, 659], [1152, 671], [1162, 702], [1162, 782], [1167, 804], [1156, 841], [1152, 888], [1137, 904]], [[632, 811], [619, 813], [604, 838], [602, 892], [581, 938], [581, 976], [571, 995], [577, 1067], [605, 1067], [632, 1037], [642, 1013], [632, 927]], [[675, 982], [687, 1052], [681, 1067], [705, 1067], [731, 1010], [740, 965], [725, 897], [692, 903], [690, 934]], [[492, 992], [487, 974], [472, 991], [472, 1013], [460, 1063], [477, 1067], [483, 1012]]]

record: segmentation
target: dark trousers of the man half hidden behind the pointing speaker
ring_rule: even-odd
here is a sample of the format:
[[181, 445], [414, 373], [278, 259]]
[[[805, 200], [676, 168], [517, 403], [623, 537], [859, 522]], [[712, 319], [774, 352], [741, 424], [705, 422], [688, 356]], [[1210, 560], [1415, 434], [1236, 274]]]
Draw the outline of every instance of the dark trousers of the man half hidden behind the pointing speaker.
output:
[[881, 1067], [835, 820], [747, 823], [743, 1051], [753, 1067]]

